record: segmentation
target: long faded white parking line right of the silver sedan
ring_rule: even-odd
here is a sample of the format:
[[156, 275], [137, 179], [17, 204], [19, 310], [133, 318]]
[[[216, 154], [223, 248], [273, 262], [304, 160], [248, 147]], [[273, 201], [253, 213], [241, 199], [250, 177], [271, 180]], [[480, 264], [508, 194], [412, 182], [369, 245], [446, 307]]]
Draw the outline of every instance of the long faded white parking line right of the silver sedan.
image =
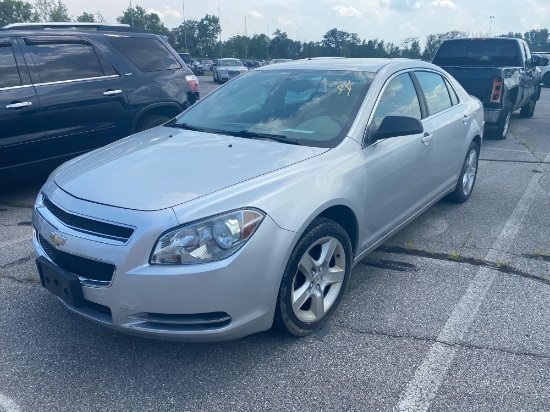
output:
[[[550, 161], [550, 155], [544, 161]], [[485, 256], [485, 260], [497, 261], [499, 257], [502, 258], [503, 251], [505, 253], [510, 245], [514, 244], [513, 240], [517, 236], [523, 220], [540, 189], [539, 179], [540, 175], [533, 176], [512, 215], [507, 220], [491, 250]], [[486, 267], [481, 267], [478, 270], [475, 278], [472, 279], [466, 292], [439, 332], [436, 338], [437, 342], [431, 346], [422, 364], [416, 369], [414, 377], [401, 393], [399, 403], [394, 407], [394, 411], [417, 412], [428, 410], [458, 351], [458, 347], [452, 345], [460, 343], [472, 325], [496, 275], [496, 271]]]

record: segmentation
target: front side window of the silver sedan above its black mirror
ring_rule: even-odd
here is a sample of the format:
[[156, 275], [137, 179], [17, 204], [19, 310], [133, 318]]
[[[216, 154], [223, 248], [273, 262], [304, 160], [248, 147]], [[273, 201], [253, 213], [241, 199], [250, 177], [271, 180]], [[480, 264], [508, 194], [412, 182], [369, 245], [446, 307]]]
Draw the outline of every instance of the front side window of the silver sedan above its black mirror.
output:
[[416, 89], [408, 74], [394, 77], [386, 86], [374, 112], [374, 126], [378, 129], [389, 115], [412, 116], [421, 119]]

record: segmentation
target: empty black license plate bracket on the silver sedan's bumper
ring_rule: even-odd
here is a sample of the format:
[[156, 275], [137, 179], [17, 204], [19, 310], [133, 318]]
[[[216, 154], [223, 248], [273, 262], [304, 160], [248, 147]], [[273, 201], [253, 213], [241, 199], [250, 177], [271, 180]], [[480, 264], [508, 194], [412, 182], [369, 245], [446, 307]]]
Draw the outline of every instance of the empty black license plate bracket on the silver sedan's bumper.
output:
[[36, 259], [40, 282], [49, 292], [68, 304], [84, 306], [84, 295], [78, 276], [67, 272], [43, 256]]

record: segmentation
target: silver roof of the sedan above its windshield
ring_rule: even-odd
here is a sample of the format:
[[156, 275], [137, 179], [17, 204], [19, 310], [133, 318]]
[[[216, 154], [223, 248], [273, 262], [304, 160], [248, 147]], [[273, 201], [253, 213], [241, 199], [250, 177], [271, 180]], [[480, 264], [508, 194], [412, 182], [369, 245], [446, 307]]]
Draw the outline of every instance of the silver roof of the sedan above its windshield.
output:
[[431, 63], [412, 59], [374, 59], [374, 58], [310, 58], [292, 60], [284, 65], [262, 66], [256, 70], [285, 70], [285, 69], [315, 69], [315, 70], [351, 70], [378, 72], [386, 66], [393, 65], [396, 69], [410, 67], [424, 67], [439, 69]]

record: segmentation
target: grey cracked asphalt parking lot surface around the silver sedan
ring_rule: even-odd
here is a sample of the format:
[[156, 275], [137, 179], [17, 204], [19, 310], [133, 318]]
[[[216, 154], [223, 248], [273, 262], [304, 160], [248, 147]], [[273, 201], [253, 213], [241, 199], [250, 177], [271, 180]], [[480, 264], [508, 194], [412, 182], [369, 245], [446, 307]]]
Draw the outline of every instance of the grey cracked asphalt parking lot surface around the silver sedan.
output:
[[549, 130], [544, 89], [532, 119], [484, 141], [470, 201], [437, 203], [357, 265], [303, 339], [163, 342], [73, 315], [34, 265], [41, 182], [0, 193], [0, 411], [547, 411]]

